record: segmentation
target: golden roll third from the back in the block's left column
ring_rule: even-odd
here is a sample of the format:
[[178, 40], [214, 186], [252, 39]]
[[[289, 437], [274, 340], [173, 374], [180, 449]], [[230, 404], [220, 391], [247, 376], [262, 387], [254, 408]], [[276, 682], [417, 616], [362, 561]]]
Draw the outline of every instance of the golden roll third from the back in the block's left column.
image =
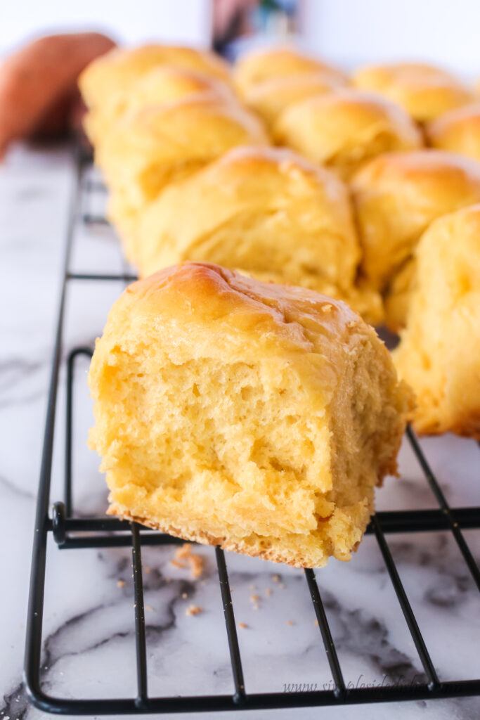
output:
[[145, 204], [166, 185], [245, 143], [268, 144], [260, 120], [213, 97], [152, 106], [120, 120], [95, 157], [113, 191], [109, 215], [125, 240], [127, 256], [135, 260], [136, 220]]

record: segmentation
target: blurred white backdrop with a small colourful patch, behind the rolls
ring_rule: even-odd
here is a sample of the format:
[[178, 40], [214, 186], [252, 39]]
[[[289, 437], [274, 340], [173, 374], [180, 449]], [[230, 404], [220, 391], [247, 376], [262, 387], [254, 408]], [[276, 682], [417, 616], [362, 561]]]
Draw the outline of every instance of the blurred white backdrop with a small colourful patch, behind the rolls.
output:
[[17, 0], [1, 15], [0, 54], [37, 35], [100, 30], [127, 44], [215, 45], [231, 57], [295, 38], [347, 68], [405, 56], [466, 74], [480, 65], [479, 0]]

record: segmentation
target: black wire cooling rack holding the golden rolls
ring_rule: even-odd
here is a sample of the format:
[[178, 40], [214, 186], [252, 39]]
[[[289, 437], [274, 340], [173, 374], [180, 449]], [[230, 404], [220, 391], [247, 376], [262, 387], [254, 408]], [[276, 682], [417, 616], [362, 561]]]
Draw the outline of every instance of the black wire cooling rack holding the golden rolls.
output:
[[[232, 676], [235, 693], [216, 696], [182, 696], [182, 697], [150, 697], [147, 687], [147, 643], [145, 639], [145, 606], [142, 588], [142, 546], [176, 545], [181, 540], [150, 531], [136, 523], [128, 523], [117, 518], [91, 517], [75, 518], [72, 513], [72, 415], [73, 415], [73, 376], [78, 356], [91, 356], [91, 348], [74, 347], [70, 351], [63, 348], [63, 319], [65, 298], [68, 287], [73, 282], [96, 280], [98, 282], [124, 281], [135, 279], [124, 274], [76, 274], [70, 271], [71, 250], [78, 220], [86, 225], [103, 224], [104, 217], [91, 215], [81, 208], [88, 203], [89, 194], [99, 192], [99, 186], [89, 179], [86, 169], [89, 158], [86, 153], [76, 150], [76, 186], [73, 193], [71, 210], [68, 220], [68, 231], [65, 241], [65, 262], [63, 281], [61, 284], [58, 321], [53, 350], [53, 361], [50, 377], [50, 390], [47, 402], [45, 421], [45, 437], [40, 469], [40, 485], [35, 518], [35, 539], [32, 555], [32, 575], [30, 581], [30, 600], [27, 621], [27, 640], [24, 677], [30, 701], [42, 711], [56, 714], [82, 714], [101, 716], [107, 714], [134, 713], [167, 713], [167, 712], [200, 712], [235, 709], [266, 709], [294, 708], [304, 706], [335, 706], [353, 703], [373, 703], [420, 700], [423, 698], [453, 698], [459, 696], [475, 696], [480, 694], [480, 679], [465, 678], [444, 682], [438, 678], [430, 653], [422, 637], [407, 593], [400, 580], [397, 567], [389, 549], [386, 535], [389, 533], [416, 533], [419, 531], [450, 531], [453, 534], [468, 571], [480, 590], [480, 572], [471, 550], [466, 543], [463, 530], [480, 528], [480, 508], [450, 508], [438, 481], [425, 459], [417, 438], [410, 428], [407, 437], [422, 467], [425, 480], [430, 485], [438, 502], [438, 509], [433, 510], [399, 510], [378, 512], [371, 519], [367, 533], [373, 534], [379, 544], [391, 584], [397, 594], [405, 622], [412, 636], [420, 657], [425, 680], [415, 685], [382, 685], [374, 688], [350, 688], [345, 684], [342, 667], [338, 659], [335, 643], [332, 639], [327, 615], [322, 602], [322, 593], [313, 570], [305, 570], [305, 580], [312, 598], [317, 616], [320, 639], [325, 647], [327, 660], [332, 672], [334, 687], [327, 690], [306, 690], [289, 693], [248, 693], [243, 680], [243, 660], [237, 639], [234, 606], [227, 574], [225, 554], [216, 548], [219, 585], [222, 595], [225, 624]], [[55, 410], [57, 407], [60, 366], [63, 353], [67, 353], [66, 363], [66, 416], [65, 416], [65, 469], [64, 497], [62, 501], [53, 502], [50, 498], [50, 482], [53, 461], [53, 439], [55, 430]], [[49, 513], [50, 511], [50, 513]], [[128, 531], [115, 534], [116, 531]], [[85, 534], [88, 532], [88, 534]], [[42, 652], [42, 616], [45, 591], [45, 566], [47, 537], [52, 534], [58, 549], [74, 550], [76, 548], [106, 548], [114, 546], [132, 546], [132, 564], [135, 591], [135, 635], [136, 635], [136, 672], [137, 696], [132, 698], [58, 698], [49, 696], [42, 689], [40, 681], [40, 660]], [[219, 628], [219, 632], [221, 629]]]

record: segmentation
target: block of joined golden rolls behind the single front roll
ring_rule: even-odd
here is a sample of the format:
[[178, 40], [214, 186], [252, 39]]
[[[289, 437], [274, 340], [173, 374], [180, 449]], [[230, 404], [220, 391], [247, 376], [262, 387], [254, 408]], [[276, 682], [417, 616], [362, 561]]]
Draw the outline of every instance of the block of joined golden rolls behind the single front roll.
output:
[[[413, 63], [166, 45], [80, 78], [109, 218], [140, 276], [208, 261], [400, 333], [419, 433], [480, 438], [480, 94]], [[478, 99], [476, 99], [476, 97]]]

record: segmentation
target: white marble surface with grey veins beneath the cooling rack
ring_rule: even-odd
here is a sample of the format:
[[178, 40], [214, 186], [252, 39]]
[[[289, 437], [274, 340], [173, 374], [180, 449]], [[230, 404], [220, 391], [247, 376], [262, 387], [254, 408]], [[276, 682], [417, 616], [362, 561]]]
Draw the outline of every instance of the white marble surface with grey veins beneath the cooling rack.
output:
[[[16, 148], [0, 168], [0, 720], [34, 720], [22, 690], [24, 624], [45, 398], [72, 166], [62, 150]], [[78, 231], [78, 271], [118, 271], [109, 230]], [[117, 284], [74, 284], [68, 294], [65, 348], [90, 345], [120, 292]], [[78, 365], [74, 447], [78, 515], [103, 513], [106, 492], [98, 459], [85, 446], [91, 423], [86, 362]], [[61, 387], [64, 376], [62, 374]], [[61, 499], [63, 390], [60, 390], [52, 499]], [[446, 437], [422, 443], [452, 505], [479, 505], [480, 451]], [[435, 508], [407, 446], [402, 479], [378, 493], [381, 509]], [[480, 533], [466, 533], [479, 557]], [[441, 679], [480, 676], [479, 594], [448, 533], [389, 536], [391, 551]], [[174, 567], [171, 549], [143, 554], [148, 606], [151, 694], [230, 693], [232, 676], [212, 548], [206, 572], [193, 580]], [[320, 632], [302, 572], [227, 554], [248, 692], [281, 691], [287, 683], [330, 683]], [[281, 575], [281, 583], [273, 575]], [[378, 546], [368, 536], [347, 564], [317, 572], [347, 683], [394, 683], [421, 672]], [[119, 580], [124, 581], [119, 584]], [[255, 586], [255, 589], [253, 589]], [[266, 589], [272, 594], [266, 597]], [[82, 698], [135, 692], [134, 615], [129, 549], [60, 551], [50, 542], [45, 596], [42, 680], [49, 693]], [[186, 593], [187, 598], [182, 595]], [[255, 610], [252, 593], [261, 595]], [[186, 616], [194, 603], [204, 608]], [[290, 624], [291, 623], [291, 624]], [[3, 698], [3, 700], [1, 699]], [[479, 698], [379, 706], [240, 712], [245, 718], [467, 720]], [[173, 717], [173, 716], [172, 716]], [[183, 717], [176, 716], [176, 717]], [[213, 714], [224, 719], [227, 714]]]

